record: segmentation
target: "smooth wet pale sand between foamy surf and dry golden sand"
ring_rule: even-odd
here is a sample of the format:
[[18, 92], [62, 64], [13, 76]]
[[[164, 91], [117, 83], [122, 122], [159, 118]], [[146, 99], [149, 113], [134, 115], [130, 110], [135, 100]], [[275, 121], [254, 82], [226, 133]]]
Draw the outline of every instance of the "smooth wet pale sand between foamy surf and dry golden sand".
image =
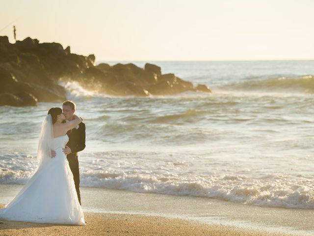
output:
[[[0, 184], [2, 192], [0, 204], [10, 202], [22, 187], [23, 185]], [[311, 220], [313, 209], [256, 207], [202, 197], [136, 193], [94, 187], [81, 187], [80, 190], [87, 224], [95, 220], [94, 215], [107, 218], [113, 216], [121, 218], [127, 215], [140, 217], [144, 221], [151, 219], [150, 217], [161, 217], [169, 222], [174, 220], [189, 222], [184, 224], [203, 224], [207, 225], [206, 227], [219, 226], [228, 229], [231, 227], [249, 232], [262, 232], [266, 235], [280, 233], [312, 236], [314, 234], [314, 221]], [[107, 220], [105, 219], [104, 222]]]

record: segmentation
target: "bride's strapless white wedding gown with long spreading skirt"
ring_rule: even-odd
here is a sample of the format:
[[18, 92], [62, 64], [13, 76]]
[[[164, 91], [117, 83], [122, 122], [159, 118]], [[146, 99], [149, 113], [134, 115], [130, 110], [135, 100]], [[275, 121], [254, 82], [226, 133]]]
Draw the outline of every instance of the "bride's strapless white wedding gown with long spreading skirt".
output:
[[0, 209], [0, 219], [38, 223], [85, 225], [73, 174], [62, 148], [67, 135], [52, 138], [56, 156], [45, 158], [18, 195]]

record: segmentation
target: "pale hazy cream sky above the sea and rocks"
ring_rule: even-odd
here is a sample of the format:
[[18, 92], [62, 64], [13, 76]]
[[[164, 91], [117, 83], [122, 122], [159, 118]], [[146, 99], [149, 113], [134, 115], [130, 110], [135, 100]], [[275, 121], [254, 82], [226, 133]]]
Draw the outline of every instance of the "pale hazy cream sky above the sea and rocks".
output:
[[18, 40], [98, 61], [314, 59], [313, 11], [314, 0], [0, 0], [0, 35], [13, 43], [15, 24]]

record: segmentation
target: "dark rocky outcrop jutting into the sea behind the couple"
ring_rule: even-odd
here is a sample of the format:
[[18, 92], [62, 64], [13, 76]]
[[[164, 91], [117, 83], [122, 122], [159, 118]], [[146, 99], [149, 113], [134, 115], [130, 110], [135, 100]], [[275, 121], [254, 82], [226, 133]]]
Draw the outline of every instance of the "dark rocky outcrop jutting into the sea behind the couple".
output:
[[0, 36], [0, 105], [61, 102], [66, 99], [66, 91], [60, 80], [77, 81], [87, 89], [113, 95], [210, 92], [206, 85], [193, 87], [174, 74], [162, 74], [154, 64], [146, 63], [144, 68], [131, 63], [95, 65], [93, 54], [73, 54], [70, 46], [63, 49], [59, 43], [39, 43], [30, 37], [11, 44], [7, 36]]

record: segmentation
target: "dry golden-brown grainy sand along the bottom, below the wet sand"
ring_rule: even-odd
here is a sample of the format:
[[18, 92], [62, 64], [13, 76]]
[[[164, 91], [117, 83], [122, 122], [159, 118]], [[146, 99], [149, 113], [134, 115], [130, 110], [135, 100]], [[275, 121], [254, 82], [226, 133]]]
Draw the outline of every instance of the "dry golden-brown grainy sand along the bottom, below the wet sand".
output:
[[[4, 207], [3, 205], [1, 207]], [[1, 220], [1, 236], [288, 236], [139, 214], [84, 213], [85, 226]]]

